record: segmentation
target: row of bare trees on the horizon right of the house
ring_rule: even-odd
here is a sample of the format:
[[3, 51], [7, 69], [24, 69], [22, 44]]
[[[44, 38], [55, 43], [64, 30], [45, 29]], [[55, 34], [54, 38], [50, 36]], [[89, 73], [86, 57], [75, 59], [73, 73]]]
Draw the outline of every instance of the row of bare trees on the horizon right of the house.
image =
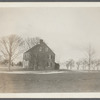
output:
[[77, 70], [99, 70], [100, 67], [100, 59], [95, 58], [95, 50], [89, 45], [85, 50], [85, 57], [79, 59], [78, 61], [74, 61], [73, 59], [69, 59], [65, 62], [67, 70], [72, 70], [75, 66]]

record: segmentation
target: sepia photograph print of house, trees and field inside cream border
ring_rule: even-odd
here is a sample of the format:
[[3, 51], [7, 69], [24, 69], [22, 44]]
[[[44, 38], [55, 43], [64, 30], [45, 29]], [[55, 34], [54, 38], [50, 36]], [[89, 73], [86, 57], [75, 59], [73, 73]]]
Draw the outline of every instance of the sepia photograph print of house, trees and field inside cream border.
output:
[[82, 92], [100, 92], [100, 7], [0, 7], [0, 93]]

